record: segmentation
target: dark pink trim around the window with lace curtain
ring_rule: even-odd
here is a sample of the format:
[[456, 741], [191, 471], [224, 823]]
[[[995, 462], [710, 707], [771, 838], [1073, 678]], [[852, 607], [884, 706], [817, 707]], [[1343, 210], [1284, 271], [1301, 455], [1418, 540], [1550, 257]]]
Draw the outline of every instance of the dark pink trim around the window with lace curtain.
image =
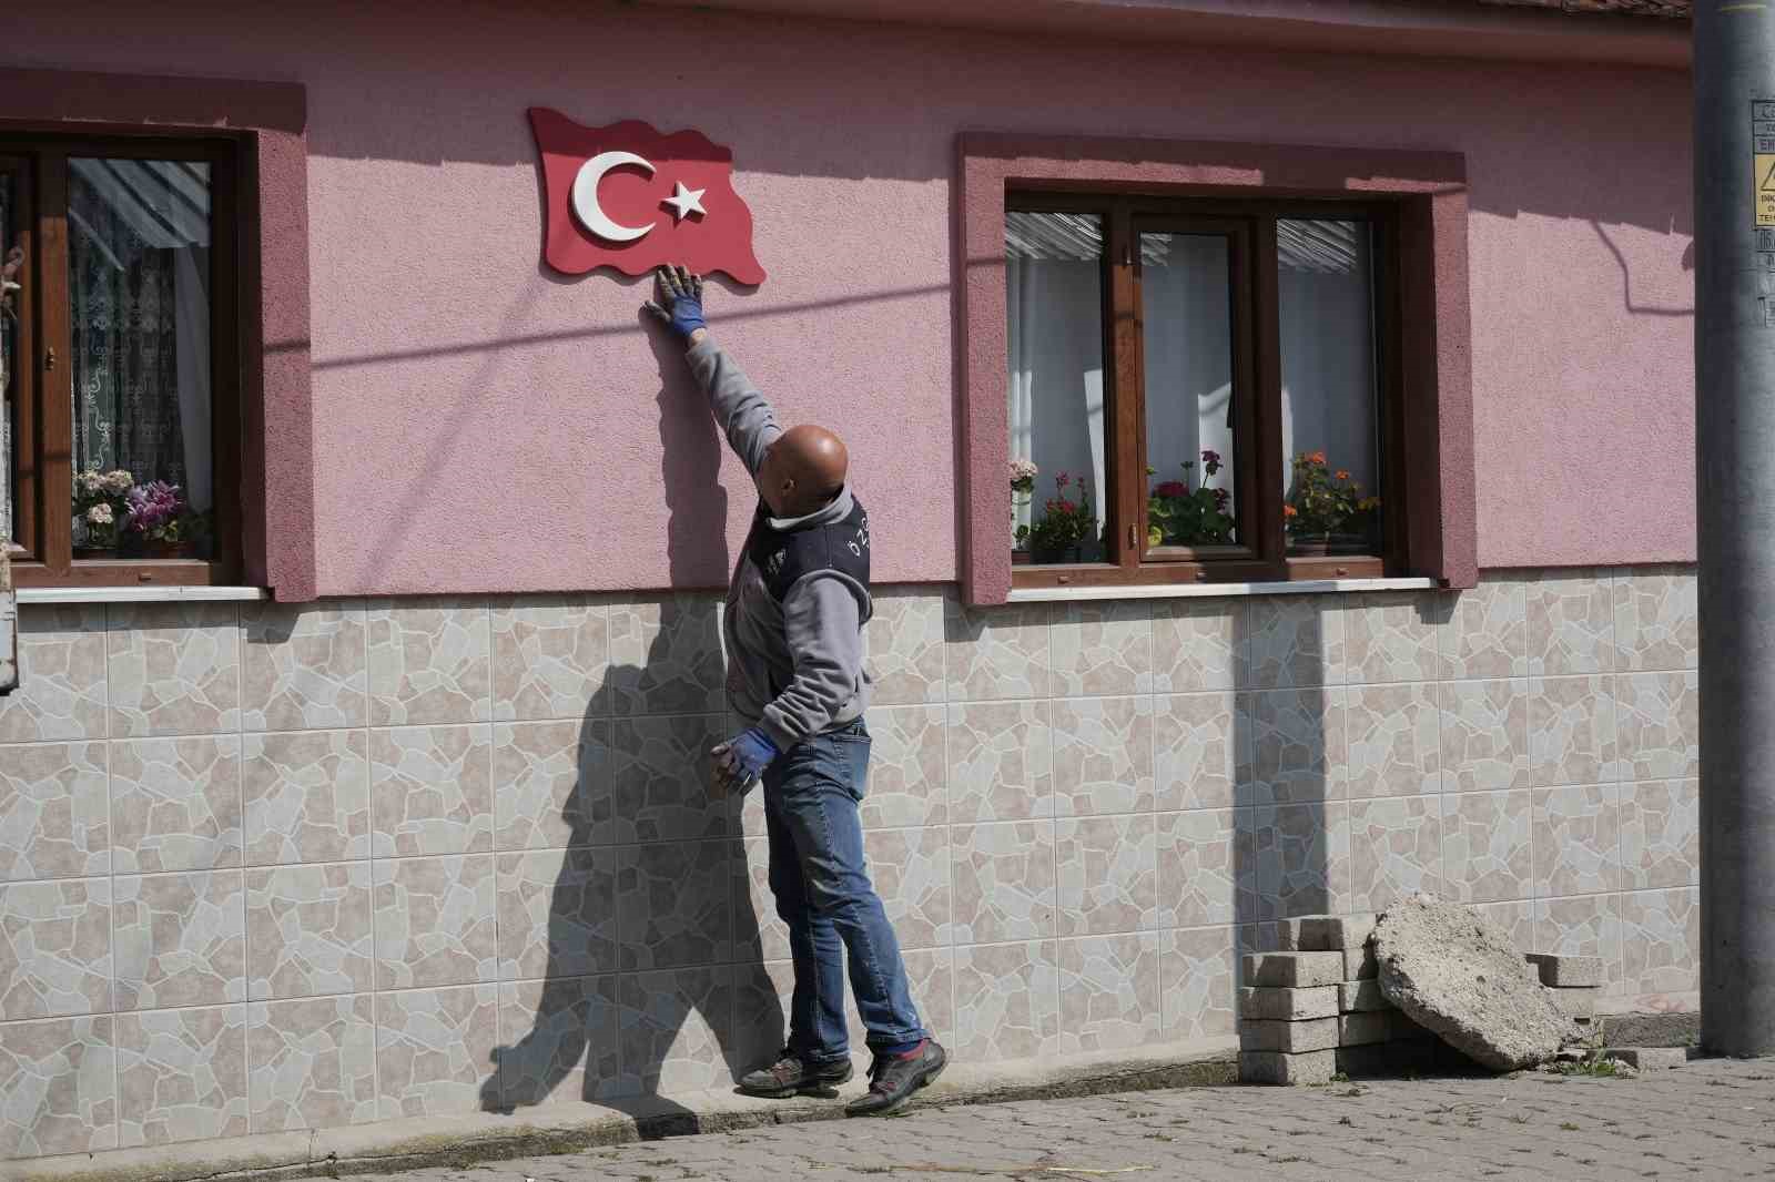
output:
[[[241, 433], [245, 577], [312, 600], [307, 91], [293, 82], [0, 69], [0, 128], [89, 135], [227, 131], [241, 140]], [[263, 472], [256, 481], [254, 474]]]

